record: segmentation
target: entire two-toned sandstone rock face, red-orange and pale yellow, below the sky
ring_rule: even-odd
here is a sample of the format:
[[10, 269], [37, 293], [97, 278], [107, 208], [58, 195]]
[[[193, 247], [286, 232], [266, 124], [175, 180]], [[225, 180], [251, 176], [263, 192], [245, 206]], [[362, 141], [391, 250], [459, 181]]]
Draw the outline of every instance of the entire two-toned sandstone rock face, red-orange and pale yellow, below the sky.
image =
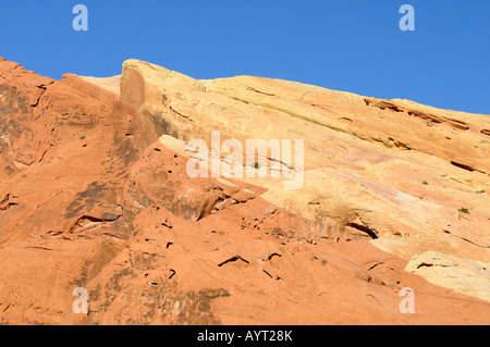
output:
[[[303, 139], [303, 186], [189, 177], [186, 142], [212, 131]], [[489, 115], [293, 82], [0, 59], [0, 322], [488, 324], [489, 134]]]

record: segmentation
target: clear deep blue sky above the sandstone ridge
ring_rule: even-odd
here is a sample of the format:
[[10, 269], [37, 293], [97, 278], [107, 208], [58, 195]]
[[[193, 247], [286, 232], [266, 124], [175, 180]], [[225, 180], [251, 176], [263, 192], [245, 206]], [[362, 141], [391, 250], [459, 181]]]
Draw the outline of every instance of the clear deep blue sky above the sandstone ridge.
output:
[[[72, 9], [88, 8], [88, 32]], [[402, 32], [402, 4], [415, 32]], [[489, 0], [16, 0], [0, 55], [41, 75], [111, 76], [130, 58], [195, 78], [297, 80], [490, 114]]]

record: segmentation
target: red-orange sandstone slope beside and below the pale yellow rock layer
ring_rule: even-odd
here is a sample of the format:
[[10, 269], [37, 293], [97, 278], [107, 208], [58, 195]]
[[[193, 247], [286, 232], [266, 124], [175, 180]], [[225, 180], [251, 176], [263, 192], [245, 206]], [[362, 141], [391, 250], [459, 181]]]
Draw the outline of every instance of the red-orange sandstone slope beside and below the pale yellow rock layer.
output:
[[[185, 172], [187, 157], [159, 140], [166, 133], [179, 135], [176, 123], [167, 124], [139, 110], [145, 95], [127, 85], [137, 75], [126, 74], [125, 78], [126, 89], [122, 94], [130, 96], [132, 102], [120, 101], [113, 92], [118, 90], [112, 86], [113, 78], [103, 80], [106, 89], [97, 86], [97, 79], [71, 74], [53, 80], [0, 59], [1, 323], [487, 324], [490, 321], [488, 301], [405, 271], [407, 259], [385, 252], [370, 241], [376, 236], [381, 245], [388, 241], [387, 250], [396, 241], [403, 249], [420, 250], [420, 244], [411, 244], [409, 238], [384, 236], [392, 230], [408, 233], [401, 225], [415, 224], [406, 221], [413, 214], [400, 212], [399, 223], [391, 219], [383, 225], [383, 215], [377, 211], [359, 216], [341, 206], [330, 206], [320, 223], [307, 213], [302, 214], [302, 209], [286, 209], [282, 203], [274, 205], [270, 197], [265, 199], [266, 188], [249, 182], [191, 179]], [[289, 92], [296, 92], [295, 88], [299, 87], [293, 84]], [[379, 112], [393, 108], [392, 102], [367, 100], [369, 104], [365, 107], [375, 106]], [[304, 102], [315, 103], [314, 95]], [[341, 97], [335, 102], [347, 103]], [[327, 103], [319, 106], [327, 108]], [[405, 111], [415, 112], [409, 104]], [[450, 125], [458, 127], [460, 123]], [[419, 144], [414, 140], [412, 146]], [[437, 152], [438, 146], [427, 151]], [[378, 159], [392, 154], [387, 152], [385, 145], [379, 147], [382, 149]], [[375, 147], [365, 148], [376, 151]], [[369, 156], [372, 152], [366, 151]], [[467, 163], [479, 170], [488, 168], [488, 162], [471, 158]], [[356, 165], [355, 160], [352, 165]], [[421, 170], [415, 161], [414, 165]], [[433, 171], [424, 168], [424, 173], [433, 175]], [[419, 181], [421, 176], [419, 173], [411, 176], [405, 170], [406, 166], [401, 166], [399, 172], [403, 176], [401, 187], [411, 193], [418, 189], [420, 201], [430, 198], [443, 206], [454, 205], [457, 210], [455, 201], [445, 200], [445, 190], [414, 187], [411, 181]], [[375, 172], [366, 172], [366, 177], [376, 176]], [[385, 203], [395, 199], [415, 203], [407, 194], [392, 196], [390, 182], [379, 179], [373, 184], [366, 177], [344, 173], [335, 179], [350, 182], [351, 187], [363, 185]], [[479, 176], [467, 182], [470, 179], [479, 182]], [[455, 183], [448, 183], [452, 184]], [[342, 191], [341, 187], [336, 189]], [[461, 194], [456, 188], [454, 191]], [[467, 195], [470, 194], [468, 190]], [[488, 200], [488, 194], [483, 197]], [[302, 201], [301, 196], [295, 199]], [[322, 207], [324, 200], [309, 202]], [[394, 202], [393, 206], [399, 207]], [[420, 202], [420, 209], [424, 206], [433, 208], [429, 202]], [[444, 213], [432, 216], [445, 221]], [[486, 248], [464, 240], [488, 239], [488, 228], [478, 232], [470, 226], [475, 221], [488, 226], [483, 215], [475, 212], [467, 215], [468, 220], [448, 220], [446, 224], [456, 225], [457, 230], [451, 228], [448, 233], [454, 234], [453, 238], [443, 240], [458, 248], [460, 257], [474, 249], [480, 249], [476, 257], [488, 257]], [[417, 231], [414, 233], [418, 235]], [[442, 238], [429, 236], [420, 236], [425, 247], [443, 248], [439, 244], [444, 243]], [[483, 273], [474, 264], [465, 264], [473, 269], [473, 275]], [[88, 290], [88, 314], [72, 311], [75, 299], [72, 293], [76, 287]], [[403, 287], [412, 287], [416, 293], [415, 314], [399, 311], [399, 292]]]

